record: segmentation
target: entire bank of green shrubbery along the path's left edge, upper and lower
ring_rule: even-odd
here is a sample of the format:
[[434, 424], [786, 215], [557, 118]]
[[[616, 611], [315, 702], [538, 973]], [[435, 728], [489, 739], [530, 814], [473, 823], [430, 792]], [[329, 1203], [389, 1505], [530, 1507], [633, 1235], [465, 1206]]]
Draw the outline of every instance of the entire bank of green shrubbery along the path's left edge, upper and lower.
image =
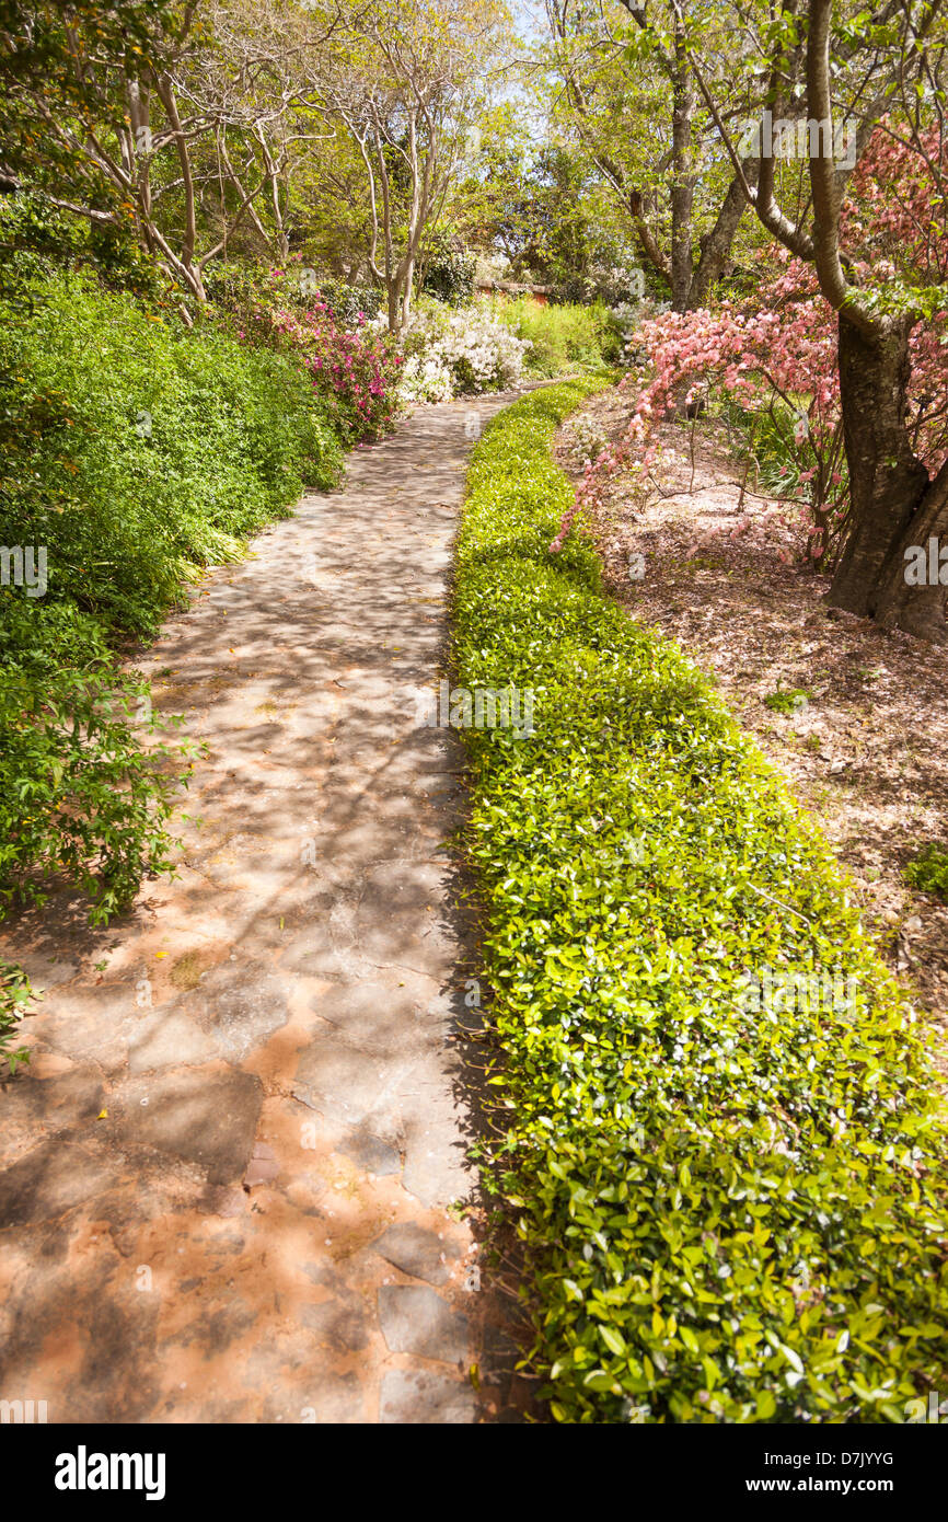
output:
[[[46, 256], [44, 256], [46, 257]], [[52, 881], [103, 922], [170, 868], [181, 747], [116, 642], [201, 566], [332, 486], [339, 441], [303, 367], [213, 321], [187, 330], [90, 274], [33, 262], [0, 303], [0, 918]], [[29, 548], [43, 583], [17, 574]], [[3, 966], [0, 1052], [29, 1000]]]

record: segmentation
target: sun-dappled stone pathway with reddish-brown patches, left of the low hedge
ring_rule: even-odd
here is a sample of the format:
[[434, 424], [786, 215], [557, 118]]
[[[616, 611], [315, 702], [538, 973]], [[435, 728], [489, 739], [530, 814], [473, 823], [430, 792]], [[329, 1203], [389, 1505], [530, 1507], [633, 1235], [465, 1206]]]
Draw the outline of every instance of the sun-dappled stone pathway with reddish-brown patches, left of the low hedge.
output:
[[0, 1399], [68, 1423], [510, 1417], [507, 1301], [457, 1208], [460, 755], [417, 718], [466, 435], [502, 400], [356, 452], [140, 662], [207, 758], [177, 881], [107, 930], [50, 904], [6, 936], [46, 998], [0, 1090]]

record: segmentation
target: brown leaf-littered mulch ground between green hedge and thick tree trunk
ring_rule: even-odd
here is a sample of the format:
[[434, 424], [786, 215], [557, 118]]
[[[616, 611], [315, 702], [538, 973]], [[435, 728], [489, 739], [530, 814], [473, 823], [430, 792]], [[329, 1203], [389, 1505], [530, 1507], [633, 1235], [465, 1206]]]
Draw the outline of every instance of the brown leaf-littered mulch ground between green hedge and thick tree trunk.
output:
[[[561, 469], [578, 476], [590, 435], [616, 438], [631, 403], [612, 388], [574, 414], [557, 437]], [[714, 674], [819, 819], [883, 956], [943, 1035], [948, 906], [907, 887], [902, 871], [927, 842], [948, 849], [945, 653], [826, 607], [826, 577], [800, 565], [796, 508], [747, 493], [740, 502], [743, 467], [720, 423], [666, 423], [660, 438], [645, 490], [619, 475], [596, 511], [609, 587]], [[630, 578], [636, 554], [642, 580]], [[778, 688], [805, 689], [805, 708], [768, 709]]]

